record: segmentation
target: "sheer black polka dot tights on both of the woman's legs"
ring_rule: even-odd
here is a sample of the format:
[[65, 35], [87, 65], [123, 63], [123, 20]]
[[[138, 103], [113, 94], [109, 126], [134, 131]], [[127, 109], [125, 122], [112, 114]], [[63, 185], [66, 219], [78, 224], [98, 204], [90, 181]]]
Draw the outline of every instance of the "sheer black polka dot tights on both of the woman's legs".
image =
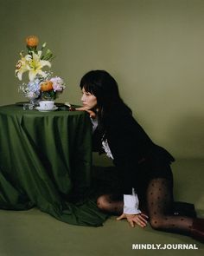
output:
[[[156, 230], [189, 234], [193, 219], [172, 213], [173, 193], [168, 180], [157, 178], [150, 181], [146, 190], [146, 208], [150, 226]], [[123, 213], [123, 200], [104, 194], [98, 199], [98, 207], [108, 213]]]

